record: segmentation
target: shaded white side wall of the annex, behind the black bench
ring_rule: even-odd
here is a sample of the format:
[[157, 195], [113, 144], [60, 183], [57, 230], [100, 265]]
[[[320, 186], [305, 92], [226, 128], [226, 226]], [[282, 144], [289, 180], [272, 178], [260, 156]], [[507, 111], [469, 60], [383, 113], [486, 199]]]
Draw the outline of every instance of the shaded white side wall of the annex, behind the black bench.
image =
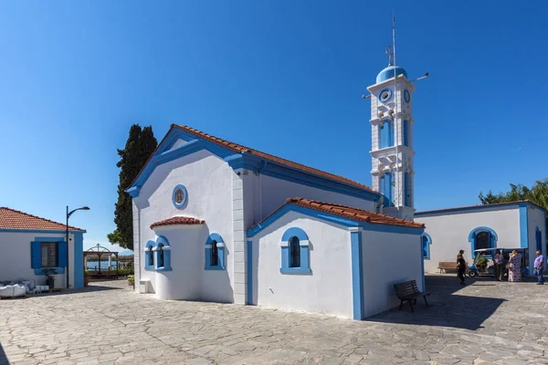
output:
[[420, 235], [362, 232], [364, 255], [364, 316], [399, 305], [394, 285], [416, 280], [423, 290], [422, 246]]

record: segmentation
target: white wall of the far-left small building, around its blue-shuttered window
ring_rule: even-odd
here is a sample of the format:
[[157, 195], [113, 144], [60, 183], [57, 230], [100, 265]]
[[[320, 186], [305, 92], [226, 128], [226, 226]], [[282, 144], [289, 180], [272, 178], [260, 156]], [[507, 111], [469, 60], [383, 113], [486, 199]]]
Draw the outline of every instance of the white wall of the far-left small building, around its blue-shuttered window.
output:
[[[72, 234], [70, 234], [73, 237]], [[66, 240], [65, 234], [49, 233], [16, 233], [0, 232], [0, 281], [29, 279], [35, 280], [36, 285], [46, 285], [46, 276], [35, 275], [35, 269], [30, 267], [30, 243], [36, 237], [58, 237], [59, 241]], [[68, 244], [69, 253], [74, 253], [74, 239]], [[69, 275], [71, 286], [74, 284], [74, 255], [69, 255]], [[55, 277], [55, 287], [67, 287], [66, 274]]]

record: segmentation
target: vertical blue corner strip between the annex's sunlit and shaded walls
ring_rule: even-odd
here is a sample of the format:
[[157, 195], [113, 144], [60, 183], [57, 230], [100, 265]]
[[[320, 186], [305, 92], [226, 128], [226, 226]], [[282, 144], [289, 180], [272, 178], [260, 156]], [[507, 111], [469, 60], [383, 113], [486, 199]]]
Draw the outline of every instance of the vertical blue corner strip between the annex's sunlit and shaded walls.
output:
[[352, 298], [353, 318], [364, 319], [364, 256], [362, 255], [362, 232], [350, 233], [352, 252]]

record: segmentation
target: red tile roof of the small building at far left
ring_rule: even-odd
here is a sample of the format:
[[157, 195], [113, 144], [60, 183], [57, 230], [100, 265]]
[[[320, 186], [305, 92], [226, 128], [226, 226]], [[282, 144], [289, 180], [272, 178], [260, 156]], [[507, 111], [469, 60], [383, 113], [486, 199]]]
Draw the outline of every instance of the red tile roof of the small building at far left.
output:
[[[34, 229], [40, 231], [64, 231], [67, 225], [40, 218], [36, 215], [26, 214], [15, 209], [0, 207], [0, 229]], [[84, 231], [83, 229], [68, 226], [71, 231]]]

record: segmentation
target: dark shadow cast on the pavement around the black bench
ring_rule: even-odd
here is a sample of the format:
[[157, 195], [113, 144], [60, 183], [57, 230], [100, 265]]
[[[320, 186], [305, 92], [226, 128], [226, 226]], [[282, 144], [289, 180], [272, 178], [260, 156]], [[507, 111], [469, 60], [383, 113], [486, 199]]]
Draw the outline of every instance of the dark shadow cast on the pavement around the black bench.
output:
[[[441, 326], [476, 330], [505, 301], [497, 297], [477, 297], [467, 293], [473, 284], [474, 288], [485, 287], [481, 292], [495, 295], [496, 282], [492, 278], [467, 278], [468, 287], [459, 285], [456, 276], [426, 276], [428, 307], [418, 298], [415, 312], [406, 304], [402, 310], [388, 310], [365, 320], [371, 322], [397, 323], [423, 326]], [[462, 289], [462, 291], [460, 291]], [[492, 293], [490, 293], [492, 290]], [[474, 290], [475, 291], [475, 290]]]

